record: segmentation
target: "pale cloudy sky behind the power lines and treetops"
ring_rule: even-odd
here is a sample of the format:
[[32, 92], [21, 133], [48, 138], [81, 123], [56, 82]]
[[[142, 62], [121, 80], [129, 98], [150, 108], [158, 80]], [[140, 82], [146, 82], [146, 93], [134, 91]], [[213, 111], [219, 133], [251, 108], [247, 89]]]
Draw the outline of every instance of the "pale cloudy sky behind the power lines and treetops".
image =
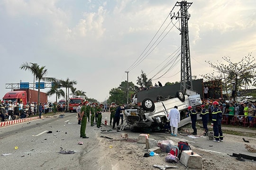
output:
[[[213, 71], [205, 60], [217, 62], [229, 56], [238, 61], [248, 53], [255, 55], [255, 0], [188, 2], [193, 2], [188, 10], [192, 75], [200, 78]], [[19, 66], [35, 62], [46, 66], [47, 76], [77, 80], [78, 90], [85, 91], [89, 98], [104, 101], [111, 88], [126, 80], [125, 71], [146, 49], [175, 3], [175, 0], [1, 0], [0, 98], [9, 91], [5, 89], [6, 83], [33, 82], [31, 73], [20, 70]], [[170, 21], [168, 17], [166, 23]], [[175, 26], [179, 27], [179, 22]], [[146, 59], [129, 70], [129, 81], [136, 84], [141, 70], [153, 77], [180, 44], [180, 31], [174, 27]], [[180, 59], [176, 62], [169, 64], [172, 68], [163, 77], [153, 79], [153, 84], [180, 81]], [[54, 99], [54, 96], [49, 98]]]

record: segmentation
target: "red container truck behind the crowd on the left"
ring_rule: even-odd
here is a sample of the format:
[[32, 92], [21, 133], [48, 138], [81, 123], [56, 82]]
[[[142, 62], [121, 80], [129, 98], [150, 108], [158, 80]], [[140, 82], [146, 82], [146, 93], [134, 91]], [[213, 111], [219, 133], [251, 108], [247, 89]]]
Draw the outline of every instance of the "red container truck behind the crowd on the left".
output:
[[[24, 105], [27, 102], [37, 102], [38, 103], [38, 91], [31, 89], [14, 89], [6, 93], [3, 97], [4, 101], [11, 100], [12, 102], [20, 102], [22, 101]], [[40, 92], [40, 102], [47, 102], [47, 94], [44, 92]]]

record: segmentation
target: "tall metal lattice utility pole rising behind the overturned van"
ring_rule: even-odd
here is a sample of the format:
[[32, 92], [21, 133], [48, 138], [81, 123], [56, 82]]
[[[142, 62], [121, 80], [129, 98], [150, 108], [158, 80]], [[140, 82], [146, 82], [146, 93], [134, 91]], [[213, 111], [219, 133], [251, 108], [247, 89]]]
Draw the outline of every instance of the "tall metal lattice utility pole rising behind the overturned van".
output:
[[191, 72], [191, 59], [189, 49], [189, 30], [188, 20], [190, 15], [188, 14], [188, 8], [192, 2], [185, 0], [176, 2], [175, 6], [180, 6], [181, 16], [181, 91], [185, 93], [185, 89], [193, 90], [192, 85], [192, 72]]

